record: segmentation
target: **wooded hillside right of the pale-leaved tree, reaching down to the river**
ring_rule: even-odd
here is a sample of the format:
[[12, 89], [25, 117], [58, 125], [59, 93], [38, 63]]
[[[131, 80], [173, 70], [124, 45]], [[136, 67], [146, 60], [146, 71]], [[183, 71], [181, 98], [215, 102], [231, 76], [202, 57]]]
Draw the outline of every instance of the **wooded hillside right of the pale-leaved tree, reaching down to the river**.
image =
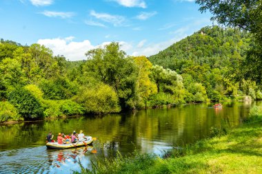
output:
[[250, 38], [244, 30], [205, 27], [148, 59], [181, 74], [185, 89], [193, 94], [192, 85], [198, 84], [211, 100], [238, 94], [261, 98], [256, 83], [243, 76]]

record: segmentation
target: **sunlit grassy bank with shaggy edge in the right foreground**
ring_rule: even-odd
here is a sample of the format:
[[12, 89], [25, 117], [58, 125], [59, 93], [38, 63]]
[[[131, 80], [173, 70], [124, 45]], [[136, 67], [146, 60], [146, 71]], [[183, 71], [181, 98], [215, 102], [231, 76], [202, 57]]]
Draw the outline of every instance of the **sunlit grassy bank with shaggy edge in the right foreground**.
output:
[[262, 173], [262, 107], [241, 127], [165, 152], [100, 160], [81, 173]]

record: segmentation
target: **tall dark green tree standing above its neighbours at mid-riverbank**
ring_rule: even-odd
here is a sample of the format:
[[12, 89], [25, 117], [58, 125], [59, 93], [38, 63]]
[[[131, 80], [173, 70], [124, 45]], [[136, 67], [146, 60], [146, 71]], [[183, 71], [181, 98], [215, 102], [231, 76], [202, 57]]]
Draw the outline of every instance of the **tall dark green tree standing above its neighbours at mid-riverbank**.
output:
[[104, 48], [88, 51], [88, 61], [83, 67], [85, 76], [110, 85], [119, 97], [121, 107], [134, 96], [136, 83], [136, 67], [132, 58], [126, 58], [120, 50], [119, 43], [110, 43]]

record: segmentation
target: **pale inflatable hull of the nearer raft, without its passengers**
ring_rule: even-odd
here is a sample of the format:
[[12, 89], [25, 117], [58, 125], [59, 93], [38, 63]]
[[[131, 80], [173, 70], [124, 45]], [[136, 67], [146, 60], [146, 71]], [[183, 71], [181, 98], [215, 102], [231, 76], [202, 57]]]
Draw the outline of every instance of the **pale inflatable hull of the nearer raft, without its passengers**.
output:
[[46, 146], [48, 149], [70, 149], [76, 148], [79, 146], [87, 146], [88, 144], [92, 144], [93, 138], [91, 136], [85, 136], [86, 140], [82, 142], [68, 143], [68, 144], [58, 144], [58, 142], [48, 142]]

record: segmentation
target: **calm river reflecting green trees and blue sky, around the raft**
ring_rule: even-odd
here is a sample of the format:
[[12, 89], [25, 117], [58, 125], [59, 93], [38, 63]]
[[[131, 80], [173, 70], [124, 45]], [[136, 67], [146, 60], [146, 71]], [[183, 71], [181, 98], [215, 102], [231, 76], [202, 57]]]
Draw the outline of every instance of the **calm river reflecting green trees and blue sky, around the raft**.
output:
[[[79, 162], [91, 167], [97, 157], [156, 153], [210, 137], [210, 128], [236, 127], [250, 107], [262, 102], [228, 102], [212, 105], [179, 105], [95, 118], [69, 118], [0, 126], [0, 173], [72, 173]], [[77, 149], [46, 149], [46, 135], [83, 130], [97, 140]]]

